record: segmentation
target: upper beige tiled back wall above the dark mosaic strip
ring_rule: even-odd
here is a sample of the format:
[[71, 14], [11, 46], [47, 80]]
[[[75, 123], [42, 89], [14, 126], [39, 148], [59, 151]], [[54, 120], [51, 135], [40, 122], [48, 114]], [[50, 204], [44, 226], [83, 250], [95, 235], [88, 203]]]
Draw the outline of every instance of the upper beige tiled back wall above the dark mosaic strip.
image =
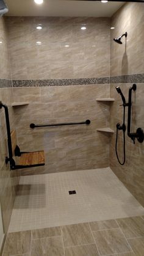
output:
[[[110, 18], [7, 17], [6, 20], [13, 79], [109, 76]], [[40, 31], [36, 29], [38, 24], [43, 27]], [[82, 31], [82, 26], [87, 29]]]

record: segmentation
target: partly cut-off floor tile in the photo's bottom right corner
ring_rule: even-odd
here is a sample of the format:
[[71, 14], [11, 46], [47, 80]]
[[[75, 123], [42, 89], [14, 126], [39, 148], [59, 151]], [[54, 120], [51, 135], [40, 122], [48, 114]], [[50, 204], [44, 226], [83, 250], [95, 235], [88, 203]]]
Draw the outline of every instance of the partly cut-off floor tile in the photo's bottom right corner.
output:
[[135, 255], [137, 256], [144, 255], [144, 238], [132, 238], [132, 239], [129, 239], [128, 242], [131, 245]]

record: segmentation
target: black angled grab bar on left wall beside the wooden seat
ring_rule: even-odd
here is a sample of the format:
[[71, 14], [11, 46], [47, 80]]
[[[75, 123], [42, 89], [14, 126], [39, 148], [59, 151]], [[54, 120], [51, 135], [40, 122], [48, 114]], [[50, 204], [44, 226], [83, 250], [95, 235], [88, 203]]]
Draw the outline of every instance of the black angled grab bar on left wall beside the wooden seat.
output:
[[9, 151], [9, 158], [6, 156], [5, 163], [7, 164], [8, 162], [10, 162], [10, 169], [12, 169], [12, 166], [15, 165], [15, 161], [13, 160], [13, 155], [12, 155], [12, 141], [10, 136], [9, 111], [8, 111], [7, 105], [2, 104], [2, 102], [0, 101], [0, 109], [2, 107], [4, 108], [4, 111], [5, 111], [5, 121], [7, 126], [7, 144], [8, 144], [8, 151]]

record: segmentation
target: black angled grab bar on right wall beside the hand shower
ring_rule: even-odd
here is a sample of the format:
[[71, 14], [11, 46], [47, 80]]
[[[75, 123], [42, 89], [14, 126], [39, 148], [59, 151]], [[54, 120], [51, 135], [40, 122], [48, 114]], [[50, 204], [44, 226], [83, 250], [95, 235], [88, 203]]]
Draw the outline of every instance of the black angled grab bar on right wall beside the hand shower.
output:
[[132, 90], [135, 91], [136, 89], [137, 89], [136, 84], [133, 84], [132, 87], [129, 88], [129, 103], [128, 103], [128, 136], [132, 139], [134, 144], [135, 144], [135, 138], [137, 138], [137, 141], [139, 141], [140, 143], [142, 143], [144, 139], [142, 128], [137, 128], [136, 133], [131, 133]]

